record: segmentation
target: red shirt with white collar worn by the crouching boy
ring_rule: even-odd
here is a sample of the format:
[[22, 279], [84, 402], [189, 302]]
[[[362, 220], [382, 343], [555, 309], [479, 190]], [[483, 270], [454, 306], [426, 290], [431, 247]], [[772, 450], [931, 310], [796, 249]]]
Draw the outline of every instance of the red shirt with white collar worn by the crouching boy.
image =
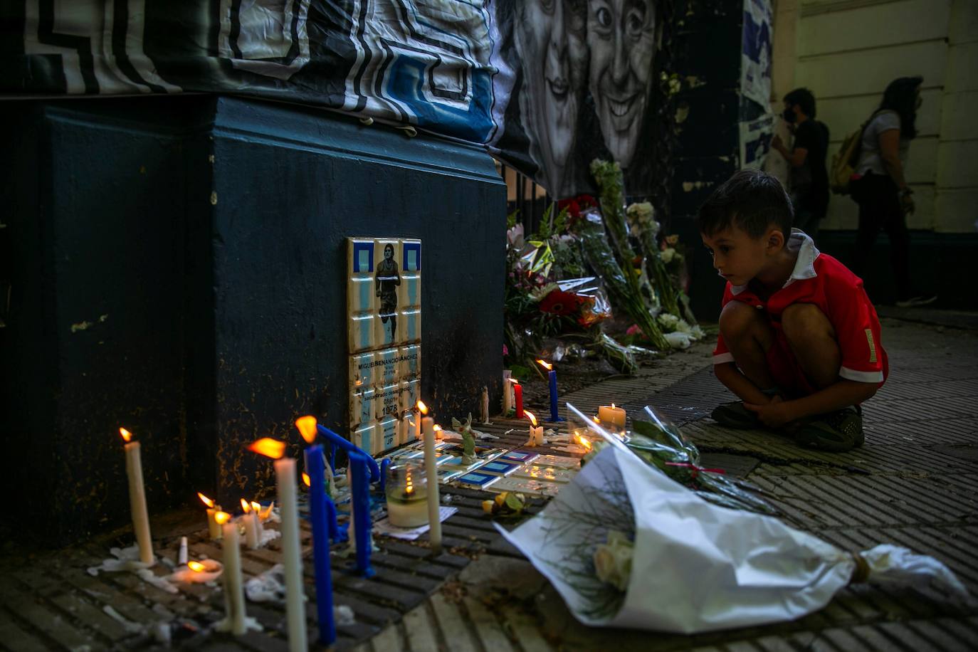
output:
[[[842, 352], [839, 375], [882, 384], [890, 366], [880, 338], [879, 318], [863, 288], [863, 280], [835, 258], [820, 252], [811, 238], [796, 229], [792, 230], [788, 245], [798, 248], [798, 260], [783, 287], [764, 301], [747, 285], [727, 283], [722, 305], [742, 301], [764, 310], [771, 325], [778, 330], [781, 313], [791, 304], [818, 306], [835, 328]], [[713, 364], [732, 362], [733, 355], [720, 335], [713, 351]]]

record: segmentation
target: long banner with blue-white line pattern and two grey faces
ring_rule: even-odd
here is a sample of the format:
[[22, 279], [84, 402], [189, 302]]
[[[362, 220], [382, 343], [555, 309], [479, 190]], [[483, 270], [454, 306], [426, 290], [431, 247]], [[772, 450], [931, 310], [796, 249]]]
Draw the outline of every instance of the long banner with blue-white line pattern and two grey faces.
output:
[[[552, 196], [613, 158], [649, 184], [656, 0], [24, 0], [0, 94], [224, 92], [486, 147]], [[770, 47], [769, 47], [770, 50]]]

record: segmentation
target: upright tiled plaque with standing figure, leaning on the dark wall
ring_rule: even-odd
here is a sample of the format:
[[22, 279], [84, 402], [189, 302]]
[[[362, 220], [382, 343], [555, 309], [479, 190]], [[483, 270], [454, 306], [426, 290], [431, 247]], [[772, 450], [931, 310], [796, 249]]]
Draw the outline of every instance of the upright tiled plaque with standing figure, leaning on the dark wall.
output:
[[350, 432], [371, 455], [406, 443], [421, 387], [422, 242], [349, 238]]

